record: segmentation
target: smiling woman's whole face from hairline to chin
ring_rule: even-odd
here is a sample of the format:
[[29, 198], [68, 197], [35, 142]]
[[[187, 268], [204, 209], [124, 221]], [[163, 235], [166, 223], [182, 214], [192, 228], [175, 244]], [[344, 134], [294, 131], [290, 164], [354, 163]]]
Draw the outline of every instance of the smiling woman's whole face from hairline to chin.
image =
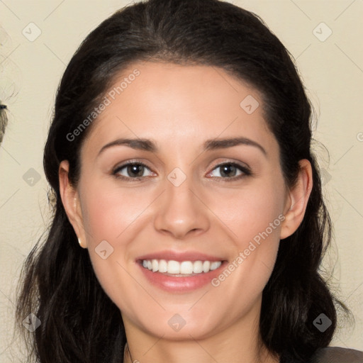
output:
[[106, 98], [67, 213], [126, 330], [201, 339], [255, 319], [298, 226], [259, 92], [215, 67], [146, 62]]

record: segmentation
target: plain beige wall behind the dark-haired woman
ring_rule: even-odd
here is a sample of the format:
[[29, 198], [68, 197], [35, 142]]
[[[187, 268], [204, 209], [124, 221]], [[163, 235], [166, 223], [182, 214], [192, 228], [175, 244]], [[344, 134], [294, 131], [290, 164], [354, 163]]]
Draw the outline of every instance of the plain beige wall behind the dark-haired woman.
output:
[[[355, 326], [340, 321], [331, 345], [363, 350], [363, 1], [230, 2], [261, 16], [286, 45], [315, 106], [314, 137], [330, 154], [329, 159], [323, 147], [316, 148], [335, 226], [324, 265], [328, 271], [335, 266], [334, 290], [355, 317]], [[90, 30], [125, 4], [0, 1], [0, 98], [9, 106], [0, 147], [0, 362], [23, 362], [11, 342], [13, 302], [23, 259], [48, 222], [43, 145], [57, 84]], [[41, 34], [30, 41], [23, 31], [30, 40]]]

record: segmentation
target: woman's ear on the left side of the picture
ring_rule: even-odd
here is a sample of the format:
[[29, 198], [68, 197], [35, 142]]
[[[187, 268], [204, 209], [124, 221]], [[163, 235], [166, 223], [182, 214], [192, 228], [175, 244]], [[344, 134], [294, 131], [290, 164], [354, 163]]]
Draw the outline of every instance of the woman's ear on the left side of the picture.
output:
[[84, 233], [82, 209], [79, 203], [79, 193], [69, 181], [69, 162], [63, 160], [58, 170], [60, 181], [60, 197], [69, 222], [79, 238], [79, 245], [86, 248], [86, 235]]

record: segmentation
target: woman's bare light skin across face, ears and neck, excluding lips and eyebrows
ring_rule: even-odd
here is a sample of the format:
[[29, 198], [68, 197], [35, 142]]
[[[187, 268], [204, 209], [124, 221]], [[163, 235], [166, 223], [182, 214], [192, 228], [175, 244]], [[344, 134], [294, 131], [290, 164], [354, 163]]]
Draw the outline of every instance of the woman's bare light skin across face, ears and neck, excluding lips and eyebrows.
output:
[[[301, 160], [296, 186], [286, 188], [259, 92], [223, 69], [138, 62], [115, 85], [135, 68], [140, 76], [91, 126], [79, 184], [69, 184], [67, 160], [59, 169], [67, 216], [101, 286], [120, 308], [132, 357], [126, 362], [278, 362], [257, 347], [262, 290], [280, 240], [303, 220], [311, 164]], [[248, 95], [259, 102], [252, 114], [240, 107]], [[202, 152], [208, 139], [236, 136], [259, 143], [267, 155], [251, 145]], [[159, 150], [118, 145], [98, 156], [117, 138], [147, 138]], [[143, 180], [112, 174], [130, 159], [147, 164]], [[222, 177], [217, 165], [223, 162], [247, 165], [253, 174], [233, 180], [243, 174], [237, 169]], [[175, 167], [186, 175], [179, 186], [167, 179]], [[122, 174], [135, 175], [127, 168]], [[203, 252], [231, 262], [279, 215], [284, 221], [217, 287], [170, 294], [150, 284], [135, 263], [160, 250]], [[102, 240], [114, 249], [107, 259], [95, 252]], [[168, 324], [175, 313], [186, 321], [177, 332]]]

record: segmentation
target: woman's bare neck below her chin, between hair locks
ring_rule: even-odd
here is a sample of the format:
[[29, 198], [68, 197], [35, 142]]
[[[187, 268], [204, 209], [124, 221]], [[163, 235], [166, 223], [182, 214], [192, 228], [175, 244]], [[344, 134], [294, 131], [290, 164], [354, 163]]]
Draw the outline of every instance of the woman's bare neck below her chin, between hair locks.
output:
[[279, 357], [259, 347], [258, 319], [253, 313], [214, 335], [169, 340], [139, 330], [124, 317], [128, 345], [124, 363], [279, 363]]

